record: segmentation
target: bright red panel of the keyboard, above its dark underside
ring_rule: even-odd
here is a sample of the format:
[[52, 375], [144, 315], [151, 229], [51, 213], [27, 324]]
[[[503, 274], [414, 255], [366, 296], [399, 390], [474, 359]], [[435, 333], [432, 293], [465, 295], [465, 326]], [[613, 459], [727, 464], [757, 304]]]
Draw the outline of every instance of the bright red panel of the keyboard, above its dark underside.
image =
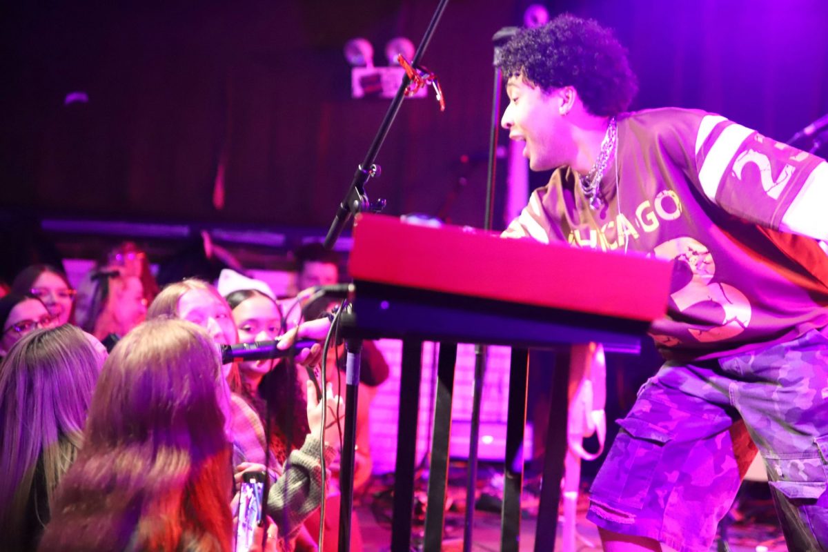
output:
[[378, 214], [357, 216], [349, 266], [354, 281], [643, 322], [667, 311], [672, 274], [670, 262], [638, 254]]

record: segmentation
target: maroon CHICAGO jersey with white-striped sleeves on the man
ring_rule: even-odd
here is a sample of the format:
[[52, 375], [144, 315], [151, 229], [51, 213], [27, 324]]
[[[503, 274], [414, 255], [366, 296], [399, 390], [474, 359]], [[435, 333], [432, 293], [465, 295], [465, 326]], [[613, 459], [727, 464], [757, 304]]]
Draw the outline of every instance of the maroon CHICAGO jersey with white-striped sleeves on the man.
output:
[[[716, 358], [828, 324], [816, 241], [828, 238], [826, 161], [711, 113], [624, 113], [599, 193], [604, 206], [590, 209], [575, 172], [558, 169], [503, 235], [674, 261], [667, 317], [651, 327], [666, 358]], [[646, 282], [607, 285], [634, 294]]]

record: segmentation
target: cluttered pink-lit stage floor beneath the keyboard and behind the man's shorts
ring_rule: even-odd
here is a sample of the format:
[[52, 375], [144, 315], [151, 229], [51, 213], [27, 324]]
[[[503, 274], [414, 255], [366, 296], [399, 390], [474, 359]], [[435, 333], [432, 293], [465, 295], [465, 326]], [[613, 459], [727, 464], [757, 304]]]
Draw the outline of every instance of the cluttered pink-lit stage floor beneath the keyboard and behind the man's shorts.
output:
[[[362, 494], [356, 504], [356, 513], [359, 516], [359, 525], [363, 535], [363, 550], [365, 552], [387, 552], [390, 549], [391, 528], [390, 528], [390, 493], [388, 492], [389, 479], [376, 478], [368, 492]], [[449, 487], [449, 511], [446, 513], [446, 529], [443, 550], [454, 551], [463, 548], [463, 506], [465, 505], [465, 488], [459, 482], [450, 482]], [[494, 510], [498, 506], [497, 481], [494, 487], [489, 482], [484, 482], [479, 491], [485, 494], [484, 501]], [[786, 552], [787, 547], [782, 539], [782, 530], [773, 514], [773, 506], [762, 487], [758, 483], [748, 484], [743, 487], [739, 495], [739, 504], [734, 506], [730, 516], [733, 521], [726, 531], [729, 550], [732, 552]], [[751, 486], [752, 485], [752, 486]], [[520, 550], [534, 550], [535, 527], [537, 526], [537, 497], [532, 488], [537, 487], [532, 482], [527, 483], [527, 490], [524, 492], [522, 506], [524, 516], [521, 524]], [[766, 486], [767, 487], [767, 486]], [[425, 500], [425, 483], [418, 491], [416, 497]], [[579, 542], [576, 546], [578, 552], [588, 550], [600, 550], [598, 530], [589, 521], [586, 521], [587, 499], [581, 496], [579, 501], [576, 530], [579, 535]], [[415, 517], [421, 512], [421, 503], [417, 502]], [[736, 521], [739, 520], [739, 521]], [[412, 545], [416, 546], [421, 541], [422, 524], [415, 522], [414, 538]], [[558, 526], [558, 543], [556, 550], [561, 550], [561, 526]], [[500, 549], [500, 516], [498, 511], [481, 511], [474, 513], [472, 550], [476, 552], [497, 552]], [[416, 548], [420, 550], [420, 548]], [[710, 550], [725, 550], [713, 545]]]

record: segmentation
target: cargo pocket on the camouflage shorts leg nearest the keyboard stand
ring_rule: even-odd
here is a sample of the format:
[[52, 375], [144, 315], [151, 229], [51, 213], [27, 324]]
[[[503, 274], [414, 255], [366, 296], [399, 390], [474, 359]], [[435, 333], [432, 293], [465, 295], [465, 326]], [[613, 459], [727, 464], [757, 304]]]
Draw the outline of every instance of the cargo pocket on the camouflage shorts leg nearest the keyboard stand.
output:
[[652, 478], [662, 463], [664, 446], [672, 440], [672, 435], [634, 417], [618, 420], [618, 424], [622, 430], [595, 477], [592, 498], [597, 502], [621, 503], [640, 510], [650, 494]]

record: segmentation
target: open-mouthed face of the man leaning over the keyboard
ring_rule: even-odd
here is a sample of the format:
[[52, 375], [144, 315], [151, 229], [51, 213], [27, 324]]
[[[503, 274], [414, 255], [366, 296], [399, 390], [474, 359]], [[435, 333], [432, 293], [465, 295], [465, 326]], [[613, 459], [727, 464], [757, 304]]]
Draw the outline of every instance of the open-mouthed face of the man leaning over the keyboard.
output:
[[575, 145], [567, 139], [560, 95], [555, 91], [546, 94], [519, 75], [508, 79], [506, 94], [509, 104], [500, 124], [509, 131], [509, 138], [526, 142], [523, 156], [529, 160], [529, 168], [550, 170], [568, 164]]

